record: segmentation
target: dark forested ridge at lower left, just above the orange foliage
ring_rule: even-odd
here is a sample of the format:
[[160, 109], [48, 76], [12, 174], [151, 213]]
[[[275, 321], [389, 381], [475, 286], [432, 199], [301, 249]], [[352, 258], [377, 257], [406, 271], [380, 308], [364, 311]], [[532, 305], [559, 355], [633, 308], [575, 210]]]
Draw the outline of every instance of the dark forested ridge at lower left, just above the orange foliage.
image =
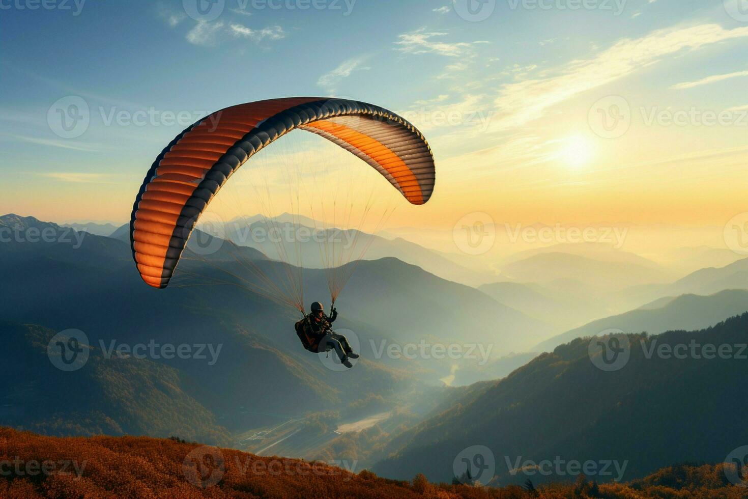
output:
[[47, 356], [55, 331], [37, 325], [0, 322], [5, 379], [25, 373], [0, 391], [4, 424], [51, 435], [174, 432], [201, 441], [230, 443], [227, 429], [188, 392], [194, 382], [173, 367], [147, 359], [105, 358], [89, 350], [84, 368], [63, 372]]

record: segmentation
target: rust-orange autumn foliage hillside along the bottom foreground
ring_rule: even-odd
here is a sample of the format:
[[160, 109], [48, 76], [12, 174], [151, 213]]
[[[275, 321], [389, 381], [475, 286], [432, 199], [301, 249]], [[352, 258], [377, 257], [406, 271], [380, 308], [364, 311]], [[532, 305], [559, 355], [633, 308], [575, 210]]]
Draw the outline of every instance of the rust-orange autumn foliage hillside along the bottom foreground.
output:
[[[355, 467], [353, 467], [355, 468]], [[58, 438], [0, 427], [1, 498], [744, 498], [722, 465], [676, 466], [628, 484], [534, 489], [387, 480], [178, 438]]]

